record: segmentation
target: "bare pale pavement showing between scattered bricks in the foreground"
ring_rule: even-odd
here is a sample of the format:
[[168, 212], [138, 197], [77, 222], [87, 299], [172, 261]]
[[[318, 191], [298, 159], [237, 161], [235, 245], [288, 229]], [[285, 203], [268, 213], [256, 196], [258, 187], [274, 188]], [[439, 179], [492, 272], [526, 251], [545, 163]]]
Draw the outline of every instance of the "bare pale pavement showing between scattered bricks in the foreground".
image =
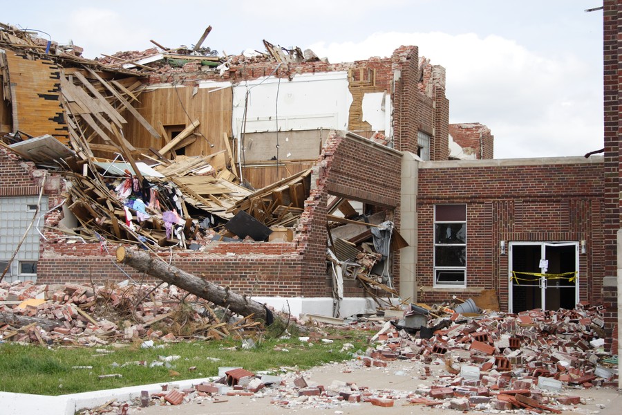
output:
[[[432, 385], [444, 374], [442, 367], [432, 369], [432, 376], [421, 378], [420, 363], [410, 360], [397, 360], [389, 362], [386, 368], [364, 367], [360, 361], [335, 363], [314, 367], [303, 372], [305, 380], [310, 386], [330, 386], [335, 380], [354, 382], [359, 387], [367, 387], [377, 394], [393, 395], [396, 398], [393, 407], [378, 407], [371, 403], [341, 403], [327, 405], [312, 398], [303, 402], [303, 399], [290, 394], [285, 396], [285, 391], [292, 391], [291, 387], [263, 389], [263, 396], [216, 396], [204, 400], [191, 400], [182, 405], [155, 405], [148, 408], [132, 408], [129, 414], [144, 415], [202, 415], [202, 414], [345, 414], [345, 415], [378, 415], [382, 414], [441, 414], [443, 412], [458, 413], [453, 409], [442, 407], [426, 407], [425, 405], [411, 405], [404, 398], [405, 393], [413, 392], [422, 385]], [[281, 389], [281, 391], [279, 391]], [[545, 394], [546, 395], [546, 394]], [[553, 394], [557, 396], [560, 394]], [[581, 396], [584, 404], [569, 407], [555, 406], [565, 415], [570, 414], [601, 414], [619, 415], [622, 413], [622, 398], [620, 391], [616, 389], [592, 388], [592, 389], [567, 389], [561, 395]], [[288, 401], [288, 406], [272, 403], [273, 401]], [[477, 412], [471, 410], [471, 412]], [[485, 413], [498, 414], [495, 409], [484, 410]], [[526, 414], [525, 411], [515, 411]], [[549, 412], [544, 412], [545, 414]]]

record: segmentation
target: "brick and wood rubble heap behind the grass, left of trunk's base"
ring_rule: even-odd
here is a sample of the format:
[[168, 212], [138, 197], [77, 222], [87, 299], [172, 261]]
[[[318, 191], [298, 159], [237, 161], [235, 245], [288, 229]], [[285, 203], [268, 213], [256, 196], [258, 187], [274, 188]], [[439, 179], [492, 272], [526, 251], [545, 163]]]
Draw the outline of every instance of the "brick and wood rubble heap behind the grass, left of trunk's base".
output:
[[96, 346], [241, 337], [260, 328], [252, 317], [236, 317], [166, 284], [0, 283], [2, 341]]

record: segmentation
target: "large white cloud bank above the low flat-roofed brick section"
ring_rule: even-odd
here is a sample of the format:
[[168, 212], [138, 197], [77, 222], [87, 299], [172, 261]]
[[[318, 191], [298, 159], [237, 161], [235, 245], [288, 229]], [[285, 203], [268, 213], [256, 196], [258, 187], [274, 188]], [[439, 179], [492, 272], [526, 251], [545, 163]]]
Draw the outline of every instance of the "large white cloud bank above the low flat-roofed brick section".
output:
[[331, 62], [390, 56], [402, 45], [446, 68], [451, 122], [482, 122], [496, 158], [578, 156], [602, 139], [601, 68], [576, 55], [543, 56], [511, 39], [446, 33], [375, 33], [310, 45]]

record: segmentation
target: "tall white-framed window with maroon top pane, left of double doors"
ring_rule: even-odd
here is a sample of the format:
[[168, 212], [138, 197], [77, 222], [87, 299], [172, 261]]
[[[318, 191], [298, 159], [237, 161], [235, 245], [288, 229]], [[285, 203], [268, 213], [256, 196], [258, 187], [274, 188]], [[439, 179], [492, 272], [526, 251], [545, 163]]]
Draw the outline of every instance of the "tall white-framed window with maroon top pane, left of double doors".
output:
[[466, 205], [434, 207], [434, 286], [466, 287]]

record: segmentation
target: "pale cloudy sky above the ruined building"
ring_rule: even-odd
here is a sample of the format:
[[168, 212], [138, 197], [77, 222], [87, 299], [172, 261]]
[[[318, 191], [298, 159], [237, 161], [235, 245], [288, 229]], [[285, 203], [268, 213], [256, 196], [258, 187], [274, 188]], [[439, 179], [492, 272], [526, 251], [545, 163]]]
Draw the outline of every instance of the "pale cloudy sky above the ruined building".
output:
[[94, 58], [202, 44], [231, 54], [263, 39], [330, 62], [402, 45], [446, 69], [450, 122], [480, 122], [495, 158], [583, 156], [603, 147], [602, 0], [29, 0], [0, 22]]

